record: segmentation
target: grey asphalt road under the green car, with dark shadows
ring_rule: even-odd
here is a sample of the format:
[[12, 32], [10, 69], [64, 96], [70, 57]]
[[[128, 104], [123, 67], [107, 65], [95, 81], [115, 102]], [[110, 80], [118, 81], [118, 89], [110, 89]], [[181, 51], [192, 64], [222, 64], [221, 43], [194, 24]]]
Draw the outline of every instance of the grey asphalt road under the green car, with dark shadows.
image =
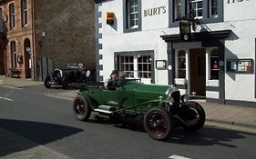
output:
[[93, 119], [79, 122], [72, 101], [45, 95], [62, 91], [43, 85], [23, 89], [0, 86], [0, 127], [77, 159], [256, 157], [256, 134], [216, 126], [206, 125], [195, 134], [177, 129], [168, 141], [159, 142], [148, 137], [139, 121], [130, 121], [125, 127]]

